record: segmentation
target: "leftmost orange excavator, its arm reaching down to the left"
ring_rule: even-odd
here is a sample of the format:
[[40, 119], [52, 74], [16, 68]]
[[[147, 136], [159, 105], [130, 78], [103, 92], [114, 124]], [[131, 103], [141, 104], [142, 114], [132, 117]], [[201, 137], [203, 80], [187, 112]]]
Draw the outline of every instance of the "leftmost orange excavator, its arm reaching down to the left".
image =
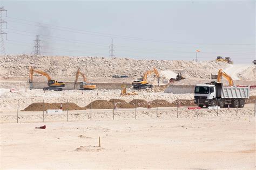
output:
[[65, 83], [57, 80], [52, 80], [50, 75], [48, 73], [45, 73], [39, 69], [35, 69], [33, 67], [30, 68], [29, 72], [29, 83], [30, 83], [30, 90], [32, 89], [32, 82], [33, 82], [33, 74], [37, 73], [40, 75], [43, 75], [48, 80], [48, 87], [44, 87], [43, 90], [55, 90], [55, 91], [62, 91], [62, 88], [59, 87], [65, 87]]

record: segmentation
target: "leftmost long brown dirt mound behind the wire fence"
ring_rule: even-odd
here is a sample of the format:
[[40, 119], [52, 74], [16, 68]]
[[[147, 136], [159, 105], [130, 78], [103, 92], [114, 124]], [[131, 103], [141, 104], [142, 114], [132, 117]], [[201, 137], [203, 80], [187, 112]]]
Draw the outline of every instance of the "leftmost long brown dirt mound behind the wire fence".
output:
[[[48, 109], [60, 109], [60, 105], [62, 104], [62, 109], [67, 109], [67, 103], [32, 103], [28, 107], [26, 107], [23, 111], [44, 111]], [[85, 110], [85, 108], [79, 107], [75, 103], [68, 103], [68, 109], [69, 110]]]

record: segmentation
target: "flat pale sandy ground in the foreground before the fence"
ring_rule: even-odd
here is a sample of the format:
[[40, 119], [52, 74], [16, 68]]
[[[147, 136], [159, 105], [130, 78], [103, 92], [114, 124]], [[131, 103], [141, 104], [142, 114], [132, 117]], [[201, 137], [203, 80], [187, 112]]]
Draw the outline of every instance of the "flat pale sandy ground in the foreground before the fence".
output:
[[253, 116], [0, 126], [1, 169], [255, 168]]

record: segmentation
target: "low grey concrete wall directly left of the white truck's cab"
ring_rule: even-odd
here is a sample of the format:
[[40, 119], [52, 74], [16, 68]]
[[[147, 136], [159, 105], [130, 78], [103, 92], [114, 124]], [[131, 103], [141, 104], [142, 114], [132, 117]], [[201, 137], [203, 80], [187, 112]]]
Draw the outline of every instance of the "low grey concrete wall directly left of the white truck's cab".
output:
[[194, 93], [195, 85], [178, 85], [170, 84], [164, 91], [164, 93], [183, 94]]

